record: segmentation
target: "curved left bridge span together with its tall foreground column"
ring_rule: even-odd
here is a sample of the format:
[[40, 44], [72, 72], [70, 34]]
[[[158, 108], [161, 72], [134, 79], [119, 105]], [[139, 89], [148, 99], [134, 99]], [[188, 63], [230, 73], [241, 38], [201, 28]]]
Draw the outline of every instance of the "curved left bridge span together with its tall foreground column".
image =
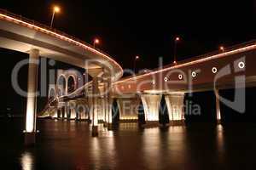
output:
[[[114, 82], [123, 74], [121, 66], [115, 60], [90, 44], [2, 9], [0, 9], [0, 48], [29, 54], [26, 127], [24, 130], [26, 144], [35, 142], [37, 132], [36, 92], [38, 92], [39, 56], [83, 68], [93, 77], [91, 84], [94, 93], [97, 92], [98, 84]], [[73, 78], [75, 79], [75, 77]], [[64, 92], [61, 94], [67, 95], [67, 88], [61, 89], [61, 91]], [[95, 131], [97, 131], [96, 127], [97, 122], [93, 123]]]

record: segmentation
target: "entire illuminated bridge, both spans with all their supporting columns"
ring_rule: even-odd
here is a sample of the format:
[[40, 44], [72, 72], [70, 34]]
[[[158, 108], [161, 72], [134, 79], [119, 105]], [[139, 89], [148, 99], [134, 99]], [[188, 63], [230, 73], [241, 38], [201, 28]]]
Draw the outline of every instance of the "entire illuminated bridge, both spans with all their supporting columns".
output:
[[[37, 104], [33, 94], [37, 92], [39, 55], [79, 66], [92, 80], [84, 81], [83, 75], [76, 71], [58, 71], [55, 83], [49, 84], [49, 102], [38, 116], [91, 122], [93, 136], [98, 134], [98, 123], [111, 130], [117, 119], [119, 122], [141, 122], [142, 126], [160, 125], [162, 99], [166, 102], [169, 125], [183, 125], [184, 94], [207, 90], [213, 90], [216, 95], [216, 120], [219, 123], [219, 102], [233, 103], [220, 96], [218, 90], [255, 86], [254, 40], [122, 79], [122, 68], [108, 54], [7, 11], [0, 13], [0, 40], [2, 48], [30, 54], [27, 144], [35, 143], [37, 130]], [[68, 87], [69, 82], [72, 87]], [[113, 105], [117, 106], [114, 108]], [[139, 114], [140, 105], [143, 105], [143, 117]], [[238, 108], [238, 111], [244, 110]]]

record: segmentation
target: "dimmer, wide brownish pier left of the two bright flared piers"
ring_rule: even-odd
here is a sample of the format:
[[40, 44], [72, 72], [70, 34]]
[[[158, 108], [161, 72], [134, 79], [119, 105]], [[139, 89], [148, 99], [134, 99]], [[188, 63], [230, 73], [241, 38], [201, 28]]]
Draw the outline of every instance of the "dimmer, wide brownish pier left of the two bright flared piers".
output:
[[137, 122], [138, 111], [137, 106], [140, 100], [137, 98], [117, 99], [119, 108], [119, 121], [120, 122]]

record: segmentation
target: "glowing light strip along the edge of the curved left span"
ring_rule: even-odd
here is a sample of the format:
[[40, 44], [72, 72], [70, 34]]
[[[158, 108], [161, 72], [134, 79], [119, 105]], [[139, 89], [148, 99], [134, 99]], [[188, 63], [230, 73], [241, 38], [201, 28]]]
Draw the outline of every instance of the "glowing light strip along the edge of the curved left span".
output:
[[[75, 40], [73, 40], [73, 39], [71, 39], [71, 38], [69, 38], [69, 37], [61, 36], [60, 34], [55, 33], [54, 31], [46, 30], [46, 29], [41, 28], [41, 27], [39, 27], [39, 26], [32, 25], [32, 24], [27, 23], [27, 22], [25, 22], [25, 21], [23, 21], [23, 20], [15, 19], [15, 18], [10, 17], [10, 16], [5, 15], [5, 14], [0, 14], [0, 17], [2, 17], [2, 18], [7, 18], [7, 19], [9, 19], [9, 20], [13, 20], [13, 21], [15, 21], [15, 23], [18, 22], [19, 24], [23, 24], [23, 25], [27, 26], [28, 28], [33, 28], [34, 30], [39, 30], [39, 31], [42, 31], [42, 32], [45, 31], [46, 33], [52, 34], [52, 35], [54, 35], [55, 37], [64, 39], [64, 40], [67, 41], [67, 42], [73, 42], [73, 43], [75, 43], [75, 44], [78, 45], [78, 46], [81, 46], [81, 47], [83, 47], [83, 48], [85, 48], [85, 49], [89, 49], [90, 51], [92, 51], [92, 52], [94, 52], [94, 53], [96, 53], [96, 54], [101, 54], [102, 56], [104, 56], [104, 57], [108, 58], [109, 60], [111, 60], [115, 65], [118, 65], [119, 69], [121, 70], [121, 72], [122, 72], [122, 74], [123, 74], [123, 68], [122, 68], [115, 60], [111, 59], [111, 58], [108, 57], [108, 55], [106, 55], [106, 54], [102, 54], [101, 52], [97, 51], [97, 50], [94, 49], [94, 48], [90, 48], [89, 46], [85, 45], [84, 43], [77, 42], [77, 41], [75, 41]], [[45, 32], [44, 32], [44, 33], [45, 33]]]

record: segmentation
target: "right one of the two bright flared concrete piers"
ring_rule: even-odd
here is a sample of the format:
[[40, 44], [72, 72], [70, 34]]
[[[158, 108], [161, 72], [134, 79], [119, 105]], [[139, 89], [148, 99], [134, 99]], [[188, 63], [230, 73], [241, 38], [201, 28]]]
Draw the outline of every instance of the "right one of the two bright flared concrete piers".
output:
[[166, 94], [166, 105], [171, 125], [184, 124], [183, 100], [184, 94]]

